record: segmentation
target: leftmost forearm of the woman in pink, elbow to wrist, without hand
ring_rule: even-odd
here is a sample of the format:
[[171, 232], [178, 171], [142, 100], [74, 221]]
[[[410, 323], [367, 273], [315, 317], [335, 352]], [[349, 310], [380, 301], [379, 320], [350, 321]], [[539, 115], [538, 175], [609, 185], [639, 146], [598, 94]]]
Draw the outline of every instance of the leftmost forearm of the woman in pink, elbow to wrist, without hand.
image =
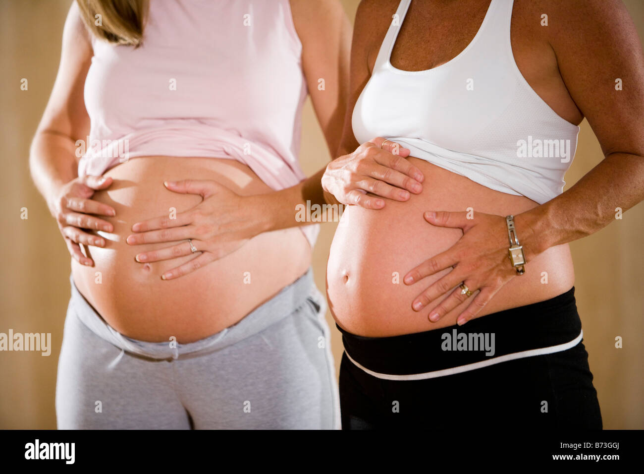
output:
[[63, 135], [37, 132], [30, 148], [29, 166], [36, 188], [53, 213], [57, 190], [77, 177], [75, 144]]

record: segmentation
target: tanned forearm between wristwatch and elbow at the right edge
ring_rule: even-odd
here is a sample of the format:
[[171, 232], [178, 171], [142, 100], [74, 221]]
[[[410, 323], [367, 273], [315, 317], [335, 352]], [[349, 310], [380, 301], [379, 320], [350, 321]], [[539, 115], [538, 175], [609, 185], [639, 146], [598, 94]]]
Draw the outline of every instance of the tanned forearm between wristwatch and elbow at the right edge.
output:
[[[644, 200], [644, 157], [612, 153], [566, 192], [515, 216], [526, 259], [601, 230]], [[522, 235], [523, 234], [523, 235]]]

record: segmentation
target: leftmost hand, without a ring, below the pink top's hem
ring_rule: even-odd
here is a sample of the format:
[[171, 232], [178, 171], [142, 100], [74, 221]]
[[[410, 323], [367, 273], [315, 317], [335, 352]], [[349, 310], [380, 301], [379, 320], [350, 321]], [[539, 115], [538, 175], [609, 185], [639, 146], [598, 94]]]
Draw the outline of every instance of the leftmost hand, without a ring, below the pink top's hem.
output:
[[59, 188], [52, 201], [52, 213], [58, 222], [71, 257], [82, 265], [93, 266], [94, 261], [82, 254], [80, 244], [97, 247], [105, 245], [105, 239], [86, 230], [113, 231], [112, 224], [94, 215], [114, 216], [116, 215], [114, 208], [91, 200], [95, 191], [104, 190], [110, 184], [112, 184], [111, 177], [75, 178]]

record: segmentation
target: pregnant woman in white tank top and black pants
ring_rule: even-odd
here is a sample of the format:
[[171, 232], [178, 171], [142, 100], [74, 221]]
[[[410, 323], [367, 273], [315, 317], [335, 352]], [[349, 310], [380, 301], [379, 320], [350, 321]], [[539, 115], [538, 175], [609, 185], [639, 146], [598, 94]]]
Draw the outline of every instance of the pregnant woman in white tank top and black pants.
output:
[[[643, 76], [617, 1], [361, 4], [340, 150], [428, 184], [334, 237], [343, 428], [601, 428], [567, 242], [644, 199]], [[583, 117], [605, 160], [562, 193]]]

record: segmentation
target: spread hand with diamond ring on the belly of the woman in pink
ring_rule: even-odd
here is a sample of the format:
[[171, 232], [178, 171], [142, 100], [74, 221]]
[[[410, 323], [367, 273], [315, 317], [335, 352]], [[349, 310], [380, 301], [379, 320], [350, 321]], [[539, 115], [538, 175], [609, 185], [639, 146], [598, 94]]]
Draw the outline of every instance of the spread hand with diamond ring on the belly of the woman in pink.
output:
[[[139, 253], [138, 262], [157, 262], [196, 253], [191, 261], [168, 270], [161, 278], [176, 279], [234, 252], [261, 229], [261, 214], [256, 204], [245, 204], [256, 196], [240, 196], [216, 181], [185, 180], [165, 182], [170, 191], [198, 194], [204, 200], [176, 216], [157, 217], [137, 222], [126, 241], [130, 245], [182, 241], [171, 247]], [[193, 252], [188, 239], [196, 251]]]

